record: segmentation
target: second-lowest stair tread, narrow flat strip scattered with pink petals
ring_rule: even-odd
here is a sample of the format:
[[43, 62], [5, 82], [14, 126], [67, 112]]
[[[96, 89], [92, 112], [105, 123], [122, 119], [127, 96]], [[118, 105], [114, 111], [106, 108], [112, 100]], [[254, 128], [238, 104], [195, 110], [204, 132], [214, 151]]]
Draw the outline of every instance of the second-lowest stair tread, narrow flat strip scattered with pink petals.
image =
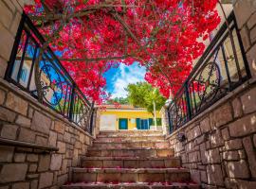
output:
[[80, 168], [73, 173], [190, 173], [187, 168]]

